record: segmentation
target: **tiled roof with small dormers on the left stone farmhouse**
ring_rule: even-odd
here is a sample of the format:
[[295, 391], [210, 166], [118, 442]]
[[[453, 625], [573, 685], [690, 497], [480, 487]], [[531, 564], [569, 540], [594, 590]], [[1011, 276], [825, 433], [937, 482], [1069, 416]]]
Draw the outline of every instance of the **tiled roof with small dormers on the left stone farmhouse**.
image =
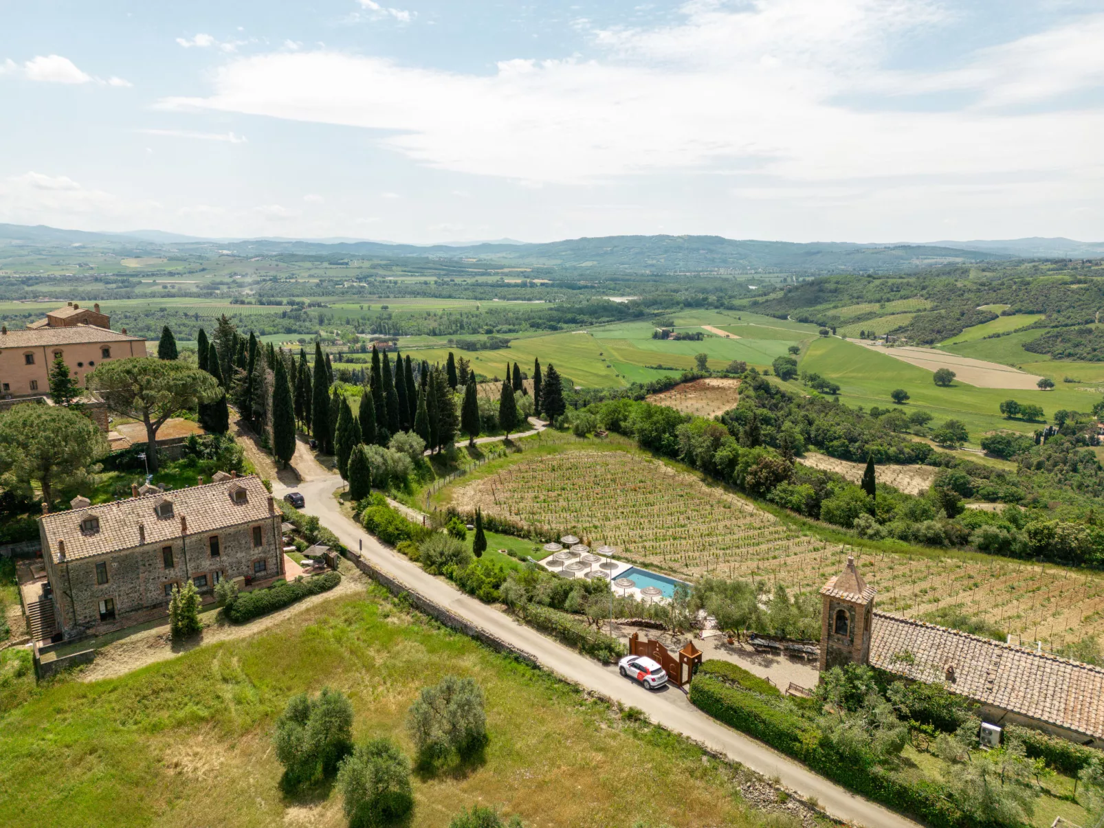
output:
[[[245, 500], [234, 499], [234, 491], [244, 489]], [[170, 541], [181, 535], [181, 517], [187, 520], [188, 534], [213, 532], [240, 523], [269, 518], [268, 490], [256, 475], [222, 482], [211, 482], [173, 491], [157, 491], [137, 498], [99, 503], [83, 509], [43, 514], [39, 521], [45, 530], [45, 543], [54, 562], [60, 561], [59, 541], [65, 542], [65, 560], [92, 558], [140, 545], [139, 524], [145, 529], [146, 543]], [[172, 503], [171, 517], [162, 517], [158, 507]], [[98, 531], [81, 528], [86, 518], [99, 520]], [[283, 519], [283, 518], [282, 518]]]

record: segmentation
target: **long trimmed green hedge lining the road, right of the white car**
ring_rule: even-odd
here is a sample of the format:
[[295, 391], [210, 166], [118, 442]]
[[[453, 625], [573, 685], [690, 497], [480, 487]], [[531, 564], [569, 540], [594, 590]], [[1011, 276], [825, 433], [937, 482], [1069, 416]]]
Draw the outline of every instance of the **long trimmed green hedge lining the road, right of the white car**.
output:
[[911, 783], [841, 755], [796, 709], [787, 711], [777, 702], [728, 684], [708, 672], [699, 670], [690, 682], [690, 701], [714, 719], [800, 760], [843, 787], [917, 816], [932, 826], [984, 828], [990, 825], [963, 813], [951, 799], [946, 786], [932, 782]]

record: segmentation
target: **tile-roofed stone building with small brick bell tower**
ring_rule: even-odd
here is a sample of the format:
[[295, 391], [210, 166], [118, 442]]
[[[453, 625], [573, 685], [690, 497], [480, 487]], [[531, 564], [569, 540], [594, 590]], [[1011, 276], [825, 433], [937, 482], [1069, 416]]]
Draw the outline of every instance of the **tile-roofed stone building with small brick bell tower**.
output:
[[1104, 669], [874, 609], [854, 559], [820, 590], [821, 672], [869, 664], [942, 683], [980, 705], [983, 721], [1022, 724], [1104, 749]]

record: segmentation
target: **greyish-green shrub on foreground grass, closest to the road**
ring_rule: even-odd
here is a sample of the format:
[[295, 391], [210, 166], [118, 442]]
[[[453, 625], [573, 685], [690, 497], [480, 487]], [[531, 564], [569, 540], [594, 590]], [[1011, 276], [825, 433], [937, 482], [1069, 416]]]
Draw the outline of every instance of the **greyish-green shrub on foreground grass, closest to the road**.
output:
[[411, 704], [406, 726], [422, 762], [433, 762], [453, 752], [470, 756], [487, 742], [484, 691], [475, 679], [446, 676], [423, 688]]

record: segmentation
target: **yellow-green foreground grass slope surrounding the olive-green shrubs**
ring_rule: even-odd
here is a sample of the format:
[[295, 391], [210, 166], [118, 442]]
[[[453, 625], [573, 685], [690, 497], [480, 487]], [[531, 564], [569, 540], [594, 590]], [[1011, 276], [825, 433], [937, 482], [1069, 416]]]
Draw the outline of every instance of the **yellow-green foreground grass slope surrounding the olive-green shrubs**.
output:
[[406, 615], [379, 587], [118, 679], [35, 687], [25, 660], [0, 652], [6, 828], [343, 827], [329, 786], [280, 794], [275, 718], [295, 693], [336, 688], [351, 698], [354, 739], [410, 752], [406, 709], [446, 673], [482, 686], [490, 740], [480, 760], [414, 775], [411, 825], [443, 828], [473, 803], [530, 827], [760, 825], [739, 804], [739, 771]]

